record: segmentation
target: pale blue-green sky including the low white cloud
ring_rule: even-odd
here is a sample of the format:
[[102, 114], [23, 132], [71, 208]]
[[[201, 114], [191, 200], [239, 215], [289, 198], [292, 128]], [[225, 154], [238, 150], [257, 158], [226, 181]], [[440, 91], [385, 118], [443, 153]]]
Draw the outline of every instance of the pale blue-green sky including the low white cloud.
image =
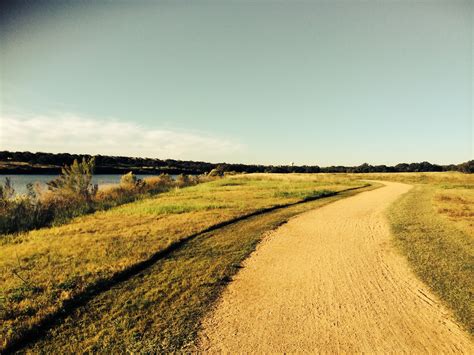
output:
[[7, 1], [0, 150], [467, 161], [473, 4]]

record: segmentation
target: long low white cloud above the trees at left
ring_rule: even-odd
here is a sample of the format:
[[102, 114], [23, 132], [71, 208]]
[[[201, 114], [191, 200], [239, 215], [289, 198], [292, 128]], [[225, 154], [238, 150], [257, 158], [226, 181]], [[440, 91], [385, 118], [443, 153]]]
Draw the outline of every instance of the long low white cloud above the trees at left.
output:
[[225, 161], [243, 146], [206, 134], [73, 114], [0, 117], [0, 150]]

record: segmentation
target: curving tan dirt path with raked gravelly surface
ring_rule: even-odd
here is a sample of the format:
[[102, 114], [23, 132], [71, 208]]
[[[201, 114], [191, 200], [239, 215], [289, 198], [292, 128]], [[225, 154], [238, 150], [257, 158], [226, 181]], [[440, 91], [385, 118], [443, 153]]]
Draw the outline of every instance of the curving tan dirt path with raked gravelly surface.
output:
[[472, 353], [391, 244], [383, 211], [410, 187], [384, 184], [270, 234], [204, 321], [200, 349]]

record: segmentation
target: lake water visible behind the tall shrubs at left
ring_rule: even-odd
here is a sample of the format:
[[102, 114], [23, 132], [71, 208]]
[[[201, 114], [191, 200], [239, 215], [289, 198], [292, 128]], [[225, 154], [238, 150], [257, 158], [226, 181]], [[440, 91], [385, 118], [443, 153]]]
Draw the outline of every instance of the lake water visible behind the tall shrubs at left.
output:
[[[100, 174], [94, 175], [92, 177], [92, 182], [94, 184], [101, 185], [108, 185], [108, 184], [117, 184], [120, 182], [121, 174]], [[139, 179], [143, 179], [145, 177], [151, 177], [153, 175], [145, 175], [145, 174], [136, 174]], [[46, 186], [46, 183], [57, 178], [58, 175], [5, 175], [0, 174], [0, 183], [5, 183], [5, 178], [10, 178], [15, 192], [17, 194], [24, 194], [27, 192], [26, 185], [29, 183], [34, 184], [35, 182], [39, 182], [41, 185]], [[175, 175], [171, 175], [174, 179], [176, 178]]]

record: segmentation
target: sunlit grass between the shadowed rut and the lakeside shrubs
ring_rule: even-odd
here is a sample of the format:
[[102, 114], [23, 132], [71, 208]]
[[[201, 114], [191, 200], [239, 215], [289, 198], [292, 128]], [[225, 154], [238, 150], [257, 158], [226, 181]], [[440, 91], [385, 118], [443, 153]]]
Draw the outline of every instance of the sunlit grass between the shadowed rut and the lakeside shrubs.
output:
[[[29, 329], [57, 314], [64, 304], [94, 285], [113, 279], [186, 236], [258, 210], [362, 185], [331, 174], [228, 177], [79, 217], [59, 227], [4, 237], [0, 241], [2, 347], [21, 339]], [[280, 223], [281, 219], [275, 221], [270, 225]], [[239, 244], [239, 233], [234, 236], [237, 238], [235, 260], [247, 255], [248, 245], [253, 247], [256, 242], [252, 239], [248, 245]], [[209, 253], [205, 259], [207, 267], [220, 270], [221, 264], [212, 265], [212, 249]], [[229, 257], [223, 256], [225, 260]], [[232, 263], [235, 260], [232, 259]], [[189, 279], [183, 276], [183, 279], [173, 280], [186, 285]], [[173, 288], [155, 286], [171, 298], [181, 297]], [[156, 292], [153, 289], [142, 291]], [[192, 297], [202, 302], [200, 296]], [[144, 300], [146, 298], [136, 302]], [[144, 304], [151, 307], [149, 302]], [[174, 314], [174, 309], [169, 308], [167, 314], [157, 317], [174, 319]], [[177, 321], [184, 320], [178, 317]]]

